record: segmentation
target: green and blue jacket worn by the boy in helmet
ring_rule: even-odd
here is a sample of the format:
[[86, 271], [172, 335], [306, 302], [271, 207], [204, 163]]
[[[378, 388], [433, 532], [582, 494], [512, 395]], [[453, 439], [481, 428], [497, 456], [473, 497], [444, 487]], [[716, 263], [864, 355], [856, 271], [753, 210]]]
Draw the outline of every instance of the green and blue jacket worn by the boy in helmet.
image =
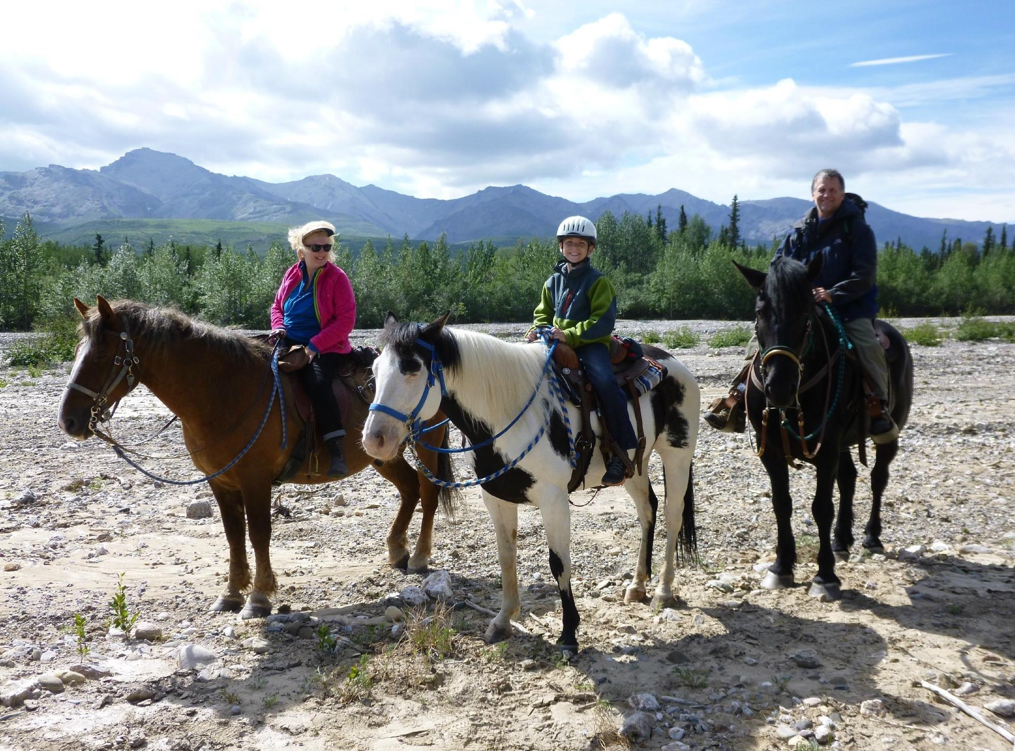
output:
[[558, 263], [533, 313], [533, 328], [556, 326], [571, 347], [594, 342], [608, 346], [616, 322], [616, 289], [588, 260], [569, 271], [566, 261]]

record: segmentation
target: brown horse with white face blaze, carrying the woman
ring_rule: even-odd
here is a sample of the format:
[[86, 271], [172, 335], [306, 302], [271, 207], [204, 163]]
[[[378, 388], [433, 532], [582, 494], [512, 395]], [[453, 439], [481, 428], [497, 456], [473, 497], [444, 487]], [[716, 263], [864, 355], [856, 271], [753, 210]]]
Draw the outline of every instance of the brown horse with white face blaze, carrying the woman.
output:
[[[272, 393], [268, 373], [271, 347], [266, 343], [194, 321], [177, 311], [141, 302], [116, 300], [111, 304], [99, 296], [95, 306], [89, 309], [75, 297], [74, 305], [84, 322], [79, 328], [74, 367], [59, 414], [60, 427], [69, 435], [80, 440], [92, 435], [94, 417], [126, 396], [135, 380], [179, 416], [194, 466], [205, 475], [225, 467], [257, 433]], [[228, 583], [211, 606], [212, 611], [242, 609], [244, 618], [271, 613], [268, 598], [277, 585], [268, 555], [271, 484], [285, 466], [302, 423], [292, 408], [288, 376], [282, 374], [282, 385], [289, 448], [281, 449], [281, 413], [273, 406], [247, 454], [228, 471], [208, 481], [229, 543]], [[346, 424], [361, 430], [366, 405], [358, 398], [349, 402]], [[447, 445], [446, 430], [433, 430], [430, 440]], [[417, 447], [417, 452], [430, 472], [453, 479], [447, 455], [422, 447]], [[363, 453], [358, 440], [347, 440], [345, 456], [350, 476], [373, 464], [401, 495], [401, 505], [388, 533], [389, 561], [394, 566], [407, 566], [410, 571], [425, 569], [438, 497], [450, 514], [453, 496], [445, 491], [438, 493], [401, 454], [389, 461], [375, 461]], [[328, 466], [327, 449], [321, 440], [317, 441], [317, 459], [321, 467]], [[324, 475], [308, 474], [307, 466], [288, 480], [303, 485], [328, 481]], [[410, 556], [407, 530], [420, 499], [422, 527]], [[248, 526], [256, 561], [253, 587], [244, 540]], [[242, 593], [248, 589], [245, 602]]]

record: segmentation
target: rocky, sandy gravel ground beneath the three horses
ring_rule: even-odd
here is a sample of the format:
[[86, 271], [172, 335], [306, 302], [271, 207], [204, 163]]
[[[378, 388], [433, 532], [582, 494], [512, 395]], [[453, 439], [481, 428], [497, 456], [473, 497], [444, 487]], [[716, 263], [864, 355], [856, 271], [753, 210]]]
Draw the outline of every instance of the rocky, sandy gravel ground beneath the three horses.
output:
[[[730, 324], [622, 330], [682, 326]], [[678, 356], [705, 403], [740, 361], [703, 344]], [[481, 610], [498, 607], [499, 568], [478, 493], [438, 520], [435, 573], [406, 575], [386, 562], [395, 492], [373, 470], [277, 493], [279, 615], [209, 614], [227, 563], [208, 490], [153, 483], [97, 441], [67, 440], [56, 424], [66, 367], [0, 369], [0, 749], [1010, 749], [919, 681], [1015, 731], [1003, 716], [1015, 697], [1015, 398], [1004, 387], [1015, 345], [946, 341], [915, 356], [887, 555], [839, 564], [840, 602], [758, 589], [775, 538], [767, 478], [747, 438], [702, 427], [701, 562], [678, 571], [680, 608], [623, 604], [633, 506], [622, 490], [574, 494], [588, 505], [572, 515], [583, 650], [569, 664], [552, 648], [560, 610], [538, 514], [520, 515], [525, 630], [489, 646]], [[166, 417], [139, 389], [117, 434], [140, 440]], [[177, 453], [179, 429], [147, 447]], [[194, 475], [185, 459], [150, 464]], [[650, 472], [661, 493], [658, 462]], [[813, 471], [792, 483], [806, 582]], [[858, 528], [869, 502], [860, 483]], [[126, 634], [111, 605], [121, 573], [120, 610], [138, 614]]]

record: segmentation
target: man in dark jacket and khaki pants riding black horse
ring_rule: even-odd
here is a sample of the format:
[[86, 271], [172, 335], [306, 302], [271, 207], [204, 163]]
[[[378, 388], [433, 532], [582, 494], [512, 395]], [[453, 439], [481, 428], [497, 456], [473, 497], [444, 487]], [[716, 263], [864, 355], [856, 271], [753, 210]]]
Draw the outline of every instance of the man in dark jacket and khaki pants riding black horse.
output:
[[[881, 414], [871, 418], [871, 437], [876, 443], [893, 440], [898, 428], [888, 414], [888, 362], [874, 335], [878, 313], [878, 247], [874, 232], [864, 220], [861, 207], [845, 197], [845, 181], [836, 169], [822, 169], [811, 181], [814, 208], [798, 221], [775, 256], [788, 256], [807, 264], [817, 255], [824, 259], [814, 280], [814, 301], [830, 302], [842, 322], [857, 352], [871, 390], [881, 404]], [[747, 346], [754, 356], [757, 337]], [[746, 374], [746, 373], [745, 373]], [[704, 419], [719, 430], [744, 429], [743, 390], [740, 379], [730, 396], [720, 399]]]

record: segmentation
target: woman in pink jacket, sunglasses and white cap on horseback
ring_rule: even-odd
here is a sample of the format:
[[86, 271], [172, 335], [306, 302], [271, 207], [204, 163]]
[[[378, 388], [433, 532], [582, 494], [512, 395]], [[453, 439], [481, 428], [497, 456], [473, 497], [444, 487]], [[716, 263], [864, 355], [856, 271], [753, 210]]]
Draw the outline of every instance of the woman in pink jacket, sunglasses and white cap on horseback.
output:
[[342, 413], [332, 392], [341, 355], [351, 350], [349, 332], [356, 322], [356, 299], [349, 277], [335, 265], [331, 249], [337, 237], [327, 221], [311, 221], [289, 230], [299, 260], [282, 277], [271, 305], [271, 338], [286, 347], [302, 344], [310, 363], [299, 370], [322, 438], [331, 453], [328, 477], [349, 473], [342, 451]]

